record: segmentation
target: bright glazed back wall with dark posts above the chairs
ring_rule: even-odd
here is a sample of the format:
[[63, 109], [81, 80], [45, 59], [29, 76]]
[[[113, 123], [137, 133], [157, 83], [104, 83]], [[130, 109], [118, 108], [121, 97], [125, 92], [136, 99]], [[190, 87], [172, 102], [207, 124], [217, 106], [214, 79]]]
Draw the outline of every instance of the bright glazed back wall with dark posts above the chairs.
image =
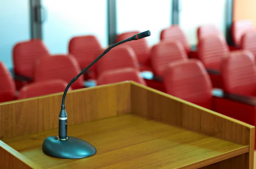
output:
[[0, 60], [12, 68], [17, 42], [43, 39], [51, 54], [67, 53], [69, 40], [93, 34], [103, 47], [125, 31], [151, 31], [148, 43], [159, 41], [160, 31], [178, 24], [190, 45], [196, 29], [214, 24], [230, 39], [233, 20], [256, 22], [255, 0], [1, 0]]

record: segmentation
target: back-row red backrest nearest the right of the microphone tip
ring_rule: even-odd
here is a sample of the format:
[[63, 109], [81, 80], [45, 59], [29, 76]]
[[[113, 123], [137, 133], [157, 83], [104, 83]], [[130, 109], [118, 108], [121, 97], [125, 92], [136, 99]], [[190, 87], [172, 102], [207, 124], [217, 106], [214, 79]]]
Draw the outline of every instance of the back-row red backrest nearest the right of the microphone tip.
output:
[[160, 33], [160, 40], [180, 41], [186, 52], [190, 51], [189, 41], [179, 25], [172, 25], [169, 28], [163, 29]]

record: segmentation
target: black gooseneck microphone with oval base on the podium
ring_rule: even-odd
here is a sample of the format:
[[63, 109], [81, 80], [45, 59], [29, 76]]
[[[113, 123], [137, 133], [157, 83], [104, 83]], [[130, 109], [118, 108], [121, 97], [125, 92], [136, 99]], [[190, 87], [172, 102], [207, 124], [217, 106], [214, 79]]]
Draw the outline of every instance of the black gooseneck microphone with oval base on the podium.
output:
[[102, 56], [107, 54], [112, 48], [131, 40], [138, 40], [150, 36], [150, 31], [141, 32], [128, 39], [117, 42], [108, 47], [101, 55], [99, 55], [93, 62], [90, 63], [84, 70], [82, 70], [76, 77], [74, 77], [64, 90], [61, 102], [61, 112], [59, 114], [58, 136], [50, 136], [44, 139], [42, 150], [45, 154], [55, 158], [78, 159], [86, 158], [96, 154], [96, 149], [90, 143], [81, 140], [80, 138], [67, 136], [67, 113], [65, 110], [65, 99], [67, 91], [70, 86], [84, 74], [90, 67], [92, 67]]

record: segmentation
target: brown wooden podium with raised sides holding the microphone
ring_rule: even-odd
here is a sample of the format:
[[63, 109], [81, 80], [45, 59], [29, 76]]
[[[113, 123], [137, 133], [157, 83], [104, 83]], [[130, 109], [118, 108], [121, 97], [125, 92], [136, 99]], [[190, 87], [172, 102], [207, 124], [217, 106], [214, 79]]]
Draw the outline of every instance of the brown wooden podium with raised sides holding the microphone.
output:
[[70, 91], [68, 135], [97, 153], [49, 157], [42, 143], [58, 135], [61, 98], [0, 104], [1, 169], [253, 169], [253, 126], [135, 82]]

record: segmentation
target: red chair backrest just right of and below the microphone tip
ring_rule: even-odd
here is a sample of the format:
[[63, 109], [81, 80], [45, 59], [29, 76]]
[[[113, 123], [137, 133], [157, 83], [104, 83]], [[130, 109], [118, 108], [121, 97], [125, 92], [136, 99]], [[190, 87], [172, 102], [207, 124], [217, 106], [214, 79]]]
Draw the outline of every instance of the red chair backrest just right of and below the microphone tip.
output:
[[188, 56], [185, 48], [179, 41], [162, 41], [151, 50], [151, 65], [157, 76], [162, 76], [163, 70], [170, 63], [186, 59]]

